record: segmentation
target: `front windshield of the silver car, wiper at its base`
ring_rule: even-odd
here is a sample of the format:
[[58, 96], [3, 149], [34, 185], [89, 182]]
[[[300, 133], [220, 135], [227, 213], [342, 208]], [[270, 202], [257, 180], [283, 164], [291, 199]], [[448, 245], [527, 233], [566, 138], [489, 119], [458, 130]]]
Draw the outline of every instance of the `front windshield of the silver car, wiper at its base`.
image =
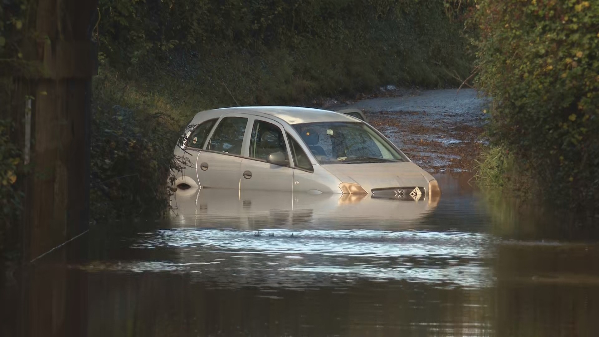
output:
[[360, 122], [315, 122], [292, 125], [319, 164], [406, 161], [385, 139]]

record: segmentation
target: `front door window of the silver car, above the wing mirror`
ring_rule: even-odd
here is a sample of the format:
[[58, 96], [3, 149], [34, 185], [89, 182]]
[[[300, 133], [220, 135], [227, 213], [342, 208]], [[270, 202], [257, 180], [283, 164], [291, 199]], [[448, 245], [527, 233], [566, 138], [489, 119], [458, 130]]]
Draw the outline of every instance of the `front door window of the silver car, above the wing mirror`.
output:
[[282, 152], [289, 159], [283, 132], [277, 125], [256, 120], [252, 128], [249, 157], [267, 161], [268, 155], [274, 152]]

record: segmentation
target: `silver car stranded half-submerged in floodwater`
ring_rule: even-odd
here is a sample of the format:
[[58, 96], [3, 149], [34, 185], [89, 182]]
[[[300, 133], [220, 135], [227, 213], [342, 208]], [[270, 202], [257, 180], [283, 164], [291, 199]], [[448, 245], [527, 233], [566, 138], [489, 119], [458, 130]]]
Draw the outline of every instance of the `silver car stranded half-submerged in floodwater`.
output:
[[232, 188], [438, 198], [437, 180], [371, 125], [304, 107], [199, 112], [174, 149], [179, 188]]

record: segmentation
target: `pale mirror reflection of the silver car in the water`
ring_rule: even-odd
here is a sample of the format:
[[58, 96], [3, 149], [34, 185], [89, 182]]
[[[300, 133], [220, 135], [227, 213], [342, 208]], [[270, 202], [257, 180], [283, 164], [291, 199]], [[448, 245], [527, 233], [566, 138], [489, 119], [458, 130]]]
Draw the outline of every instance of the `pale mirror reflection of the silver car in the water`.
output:
[[[406, 192], [407, 194], [408, 192]], [[366, 228], [383, 224], [414, 224], [437, 206], [440, 197], [419, 195], [397, 200], [356, 194], [258, 191], [220, 188], [178, 189], [171, 198], [174, 221], [181, 227], [213, 227], [231, 224], [242, 230], [317, 225]], [[415, 200], [418, 199], [418, 200]], [[191, 219], [190, 219], [191, 218]]]

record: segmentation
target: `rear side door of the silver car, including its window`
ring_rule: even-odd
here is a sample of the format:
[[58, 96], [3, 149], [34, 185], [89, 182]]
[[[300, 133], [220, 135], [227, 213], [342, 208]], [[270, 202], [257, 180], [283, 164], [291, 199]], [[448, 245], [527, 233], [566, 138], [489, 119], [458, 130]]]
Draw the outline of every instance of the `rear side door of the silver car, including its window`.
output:
[[205, 146], [198, 154], [198, 180], [202, 188], [239, 188], [247, 115], [229, 114], [220, 119]]

